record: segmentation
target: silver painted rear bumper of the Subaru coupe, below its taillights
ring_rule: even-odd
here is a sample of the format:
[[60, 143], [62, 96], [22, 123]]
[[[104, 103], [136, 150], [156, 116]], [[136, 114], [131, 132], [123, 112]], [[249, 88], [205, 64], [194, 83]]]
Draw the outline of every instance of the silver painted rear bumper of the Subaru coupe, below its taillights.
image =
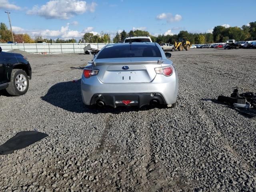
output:
[[[85, 78], [82, 75], [81, 78], [81, 93], [84, 104], [91, 105], [96, 102], [98, 94], [107, 98], [107, 103], [110, 106], [115, 107], [113, 102], [108, 100], [132, 100], [127, 96], [137, 97], [141, 102], [137, 105], [143, 106], [149, 104], [149, 100], [154, 98], [151, 97], [152, 93], [158, 96], [158, 100], [162, 104], [174, 104], [177, 100], [178, 95], [178, 74], [176, 71], [171, 76], [163, 76], [157, 74], [154, 80], [150, 83], [102, 83], [97, 76]], [[120, 97], [119, 97], [120, 96]], [[150, 99], [149, 99], [150, 98]], [[98, 100], [97, 100], [98, 101]]]

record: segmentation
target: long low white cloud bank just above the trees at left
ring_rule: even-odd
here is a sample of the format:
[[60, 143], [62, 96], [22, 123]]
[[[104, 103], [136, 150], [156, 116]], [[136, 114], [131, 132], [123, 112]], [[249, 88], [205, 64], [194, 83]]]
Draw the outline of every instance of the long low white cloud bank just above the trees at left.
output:
[[12, 29], [15, 33], [28, 33], [30, 36], [42, 36], [42, 38], [61, 38], [61, 39], [70, 39], [70, 38], [82, 38], [84, 35], [86, 29], [89, 33], [92, 33], [94, 35], [98, 34], [98, 32], [94, 32], [93, 27], [88, 27], [82, 32], [79, 32], [77, 30], [70, 30], [70, 24], [67, 23], [66, 26], [62, 26], [60, 30], [26, 30], [18, 26], [13, 26]]

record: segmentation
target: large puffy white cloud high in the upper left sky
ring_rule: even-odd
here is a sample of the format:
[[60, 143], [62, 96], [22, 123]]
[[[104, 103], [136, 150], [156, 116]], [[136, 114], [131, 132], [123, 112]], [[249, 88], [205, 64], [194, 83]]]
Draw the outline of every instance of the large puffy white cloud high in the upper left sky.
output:
[[39, 15], [46, 19], [69, 19], [88, 10], [94, 12], [96, 6], [94, 2], [87, 4], [86, 1], [79, 0], [50, 0], [41, 7], [34, 6], [27, 14]]

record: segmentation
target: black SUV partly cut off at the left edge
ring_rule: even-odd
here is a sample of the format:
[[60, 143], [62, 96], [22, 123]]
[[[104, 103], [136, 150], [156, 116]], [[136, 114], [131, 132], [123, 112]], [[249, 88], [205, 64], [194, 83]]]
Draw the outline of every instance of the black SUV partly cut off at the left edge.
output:
[[31, 77], [32, 70], [26, 57], [2, 52], [0, 47], [0, 90], [6, 89], [12, 96], [23, 95], [28, 90]]

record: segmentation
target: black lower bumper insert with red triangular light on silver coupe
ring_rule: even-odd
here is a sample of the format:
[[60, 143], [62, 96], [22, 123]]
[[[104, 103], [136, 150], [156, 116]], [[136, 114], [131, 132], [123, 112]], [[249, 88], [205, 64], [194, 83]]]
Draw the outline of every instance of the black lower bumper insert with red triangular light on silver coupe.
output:
[[[132, 101], [125, 104], [122, 101]], [[117, 106], [139, 106], [149, 105], [152, 101], [157, 104], [166, 104], [160, 93], [130, 93], [130, 94], [94, 94], [90, 105], [96, 104], [98, 101], [104, 102], [107, 106], [116, 108]]]

